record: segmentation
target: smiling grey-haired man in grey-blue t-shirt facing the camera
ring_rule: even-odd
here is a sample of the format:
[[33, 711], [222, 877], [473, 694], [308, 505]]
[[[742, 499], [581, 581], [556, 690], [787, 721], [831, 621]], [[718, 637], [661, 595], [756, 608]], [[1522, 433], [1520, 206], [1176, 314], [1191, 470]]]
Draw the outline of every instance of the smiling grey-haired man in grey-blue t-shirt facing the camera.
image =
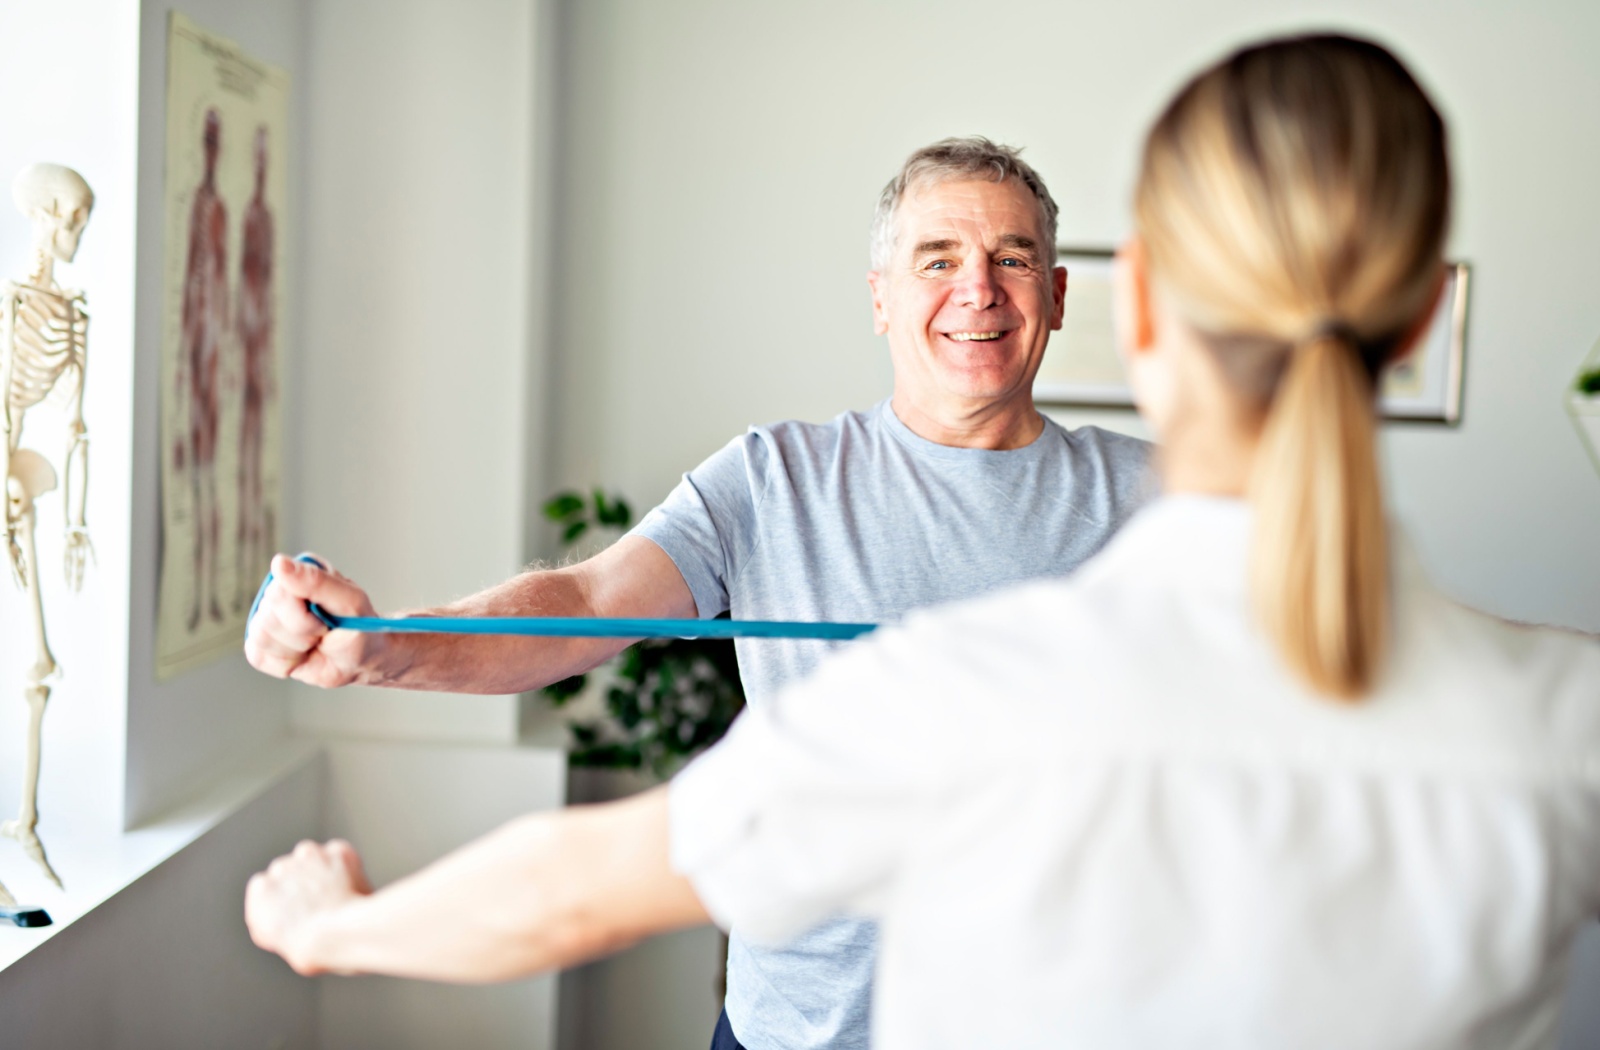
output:
[[[867, 283], [894, 365], [890, 400], [826, 424], [754, 427], [603, 554], [432, 615], [890, 621], [1070, 571], [1146, 498], [1149, 450], [1093, 427], [1064, 431], [1034, 408], [1067, 287], [1054, 242], [1056, 203], [1014, 149], [968, 138], [917, 150], [885, 187], [872, 229]], [[314, 685], [510, 693], [622, 648], [326, 632], [307, 600], [373, 615], [366, 595], [282, 555], [272, 571], [282, 586], [262, 602], [246, 653], [267, 674]], [[749, 703], [808, 674], [826, 650], [739, 642]], [[254, 892], [253, 928], [272, 948], [296, 863]], [[856, 920], [781, 949], [733, 930], [714, 1048], [866, 1047], [874, 943], [874, 927]]]

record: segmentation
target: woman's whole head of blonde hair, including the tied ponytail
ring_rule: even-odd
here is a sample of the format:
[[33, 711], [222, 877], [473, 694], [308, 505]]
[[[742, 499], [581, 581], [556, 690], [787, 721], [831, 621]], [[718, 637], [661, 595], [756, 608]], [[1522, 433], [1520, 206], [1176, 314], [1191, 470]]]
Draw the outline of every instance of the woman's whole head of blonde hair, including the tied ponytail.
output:
[[1445, 125], [1368, 40], [1298, 37], [1195, 77], [1134, 195], [1154, 287], [1261, 423], [1250, 499], [1261, 629], [1312, 688], [1368, 693], [1389, 632], [1374, 376], [1438, 288]]

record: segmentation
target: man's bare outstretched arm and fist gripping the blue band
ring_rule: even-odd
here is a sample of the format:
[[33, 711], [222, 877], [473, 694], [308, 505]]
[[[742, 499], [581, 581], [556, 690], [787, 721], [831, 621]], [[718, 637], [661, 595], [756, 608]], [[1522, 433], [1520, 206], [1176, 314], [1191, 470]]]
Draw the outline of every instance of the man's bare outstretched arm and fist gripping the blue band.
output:
[[[581, 674], [627, 648], [627, 639], [360, 634], [328, 631], [315, 602], [339, 616], [374, 616], [371, 600], [336, 571], [272, 559], [245, 656], [258, 671], [309, 685], [386, 685], [450, 693], [520, 693]], [[666, 551], [624, 536], [587, 562], [528, 571], [451, 605], [410, 616], [638, 616], [686, 619], [694, 595]]]

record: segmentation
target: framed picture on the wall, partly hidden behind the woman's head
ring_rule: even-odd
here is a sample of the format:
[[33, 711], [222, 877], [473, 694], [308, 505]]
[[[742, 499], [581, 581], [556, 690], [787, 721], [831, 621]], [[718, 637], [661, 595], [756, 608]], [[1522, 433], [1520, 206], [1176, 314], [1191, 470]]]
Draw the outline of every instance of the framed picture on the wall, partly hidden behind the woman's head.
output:
[[[1067, 304], [1061, 331], [1045, 351], [1034, 379], [1040, 405], [1075, 408], [1133, 408], [1112, 333], [1110, 269], [1106, 248], [1058, 248], [1067, 267]], [[1456, 423], [1461, 419], [1461, 378], [1467, 343], [1466, 262], [1450, 264], [1445, 295], [1416, 349], [1382, 378], [1379, 408], [1386, 419]]]

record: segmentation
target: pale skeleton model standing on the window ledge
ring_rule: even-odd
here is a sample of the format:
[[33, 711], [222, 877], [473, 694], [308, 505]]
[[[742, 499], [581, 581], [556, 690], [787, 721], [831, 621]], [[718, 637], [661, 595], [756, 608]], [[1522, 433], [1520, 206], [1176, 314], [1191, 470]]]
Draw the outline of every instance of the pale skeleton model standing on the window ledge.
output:
[[[34, 541], [35, 504], [56, 487], [56, 471], [45, 456], [22, 448], [22, 419], [27, 410], [53, 391], [70, 403], [66, 472], [66, 570], [77, 589], [91, 557], [85, 503], [88, 498], [88, 437], [83, 426], [83, 375], [88, 347], [88, 314], [83, 295], [56, 283], [56, 259], [70, 262], [78, 237], [90, 221], [94, 194], [72, 168], [30, 165], [11, 184], [16, 206], [34, 222], [34, 264], [27, 280], [0, 283], [0, 477], [5, 477], [5, 547], [11, 571], [27, 594], [34, 615], [34, 664], [22, 695], [27, 698], [27, 770], [22, 808], [16, 820], [0, 824], [0, 834], [16, 839], [58, 887], [61, 879], [45, 860], [38, 840], [38, 730], [50, 699], [48, 679], [56, 674], [56, 658], [45, 639], [45, 607], [40, 600], [38, 546]], [[14, 906], [0, 885], [0, 904]]]

